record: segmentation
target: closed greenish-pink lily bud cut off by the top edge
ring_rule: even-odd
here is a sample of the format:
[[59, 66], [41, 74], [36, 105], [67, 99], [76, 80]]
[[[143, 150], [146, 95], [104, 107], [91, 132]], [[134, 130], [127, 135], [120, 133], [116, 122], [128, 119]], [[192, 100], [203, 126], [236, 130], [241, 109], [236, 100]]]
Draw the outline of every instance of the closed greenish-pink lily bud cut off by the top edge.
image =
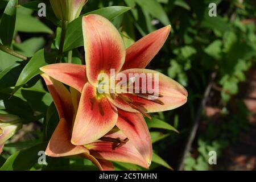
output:
[[58, 19], [72, 22], [79, 17], [88, 0], [50, 0], [52, 10]]

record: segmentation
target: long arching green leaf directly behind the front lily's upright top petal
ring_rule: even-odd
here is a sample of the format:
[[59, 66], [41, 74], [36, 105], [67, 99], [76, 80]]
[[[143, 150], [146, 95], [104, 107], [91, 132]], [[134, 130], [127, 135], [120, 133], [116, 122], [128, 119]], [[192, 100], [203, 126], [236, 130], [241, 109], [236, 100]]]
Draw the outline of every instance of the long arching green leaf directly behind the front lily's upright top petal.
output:
[[[104, 16], [109, 20], [113, 20], [115, 17], [129, 11], [131, 8], [126, 6], [110, 6], [104, 7], [99, 10], [91, 11], [84, 15], [88, 14], [98, 14]], [[72, 50], [74, 48], [84, 46], [84, 39], [82, 37], [82, 16], [73, 20], [71, 23], [68, 24], [66, 38], [64, 42], [64, 52]]]

